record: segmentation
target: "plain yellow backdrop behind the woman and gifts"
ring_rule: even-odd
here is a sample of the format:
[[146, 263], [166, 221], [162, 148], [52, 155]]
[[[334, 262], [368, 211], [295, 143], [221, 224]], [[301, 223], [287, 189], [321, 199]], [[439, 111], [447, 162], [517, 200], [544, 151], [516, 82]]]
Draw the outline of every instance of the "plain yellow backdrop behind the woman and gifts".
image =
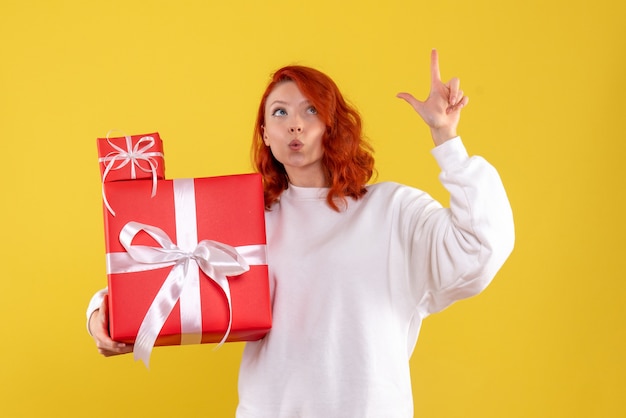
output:
[[0, 415], [228, 417], [242, 344], [105, 359], [84, 310], [106, 283], [95, 138], [160, 132], [168, 178], [250, 171], [276, 68], [317, 67], [360, 109], [379, 180], [447, 202], [419, 117], [429, 51], [500, 171], [516, 248], [482, 295], [424, 323], [422, 417], [626, 416], [620, 0], [0, 3]]

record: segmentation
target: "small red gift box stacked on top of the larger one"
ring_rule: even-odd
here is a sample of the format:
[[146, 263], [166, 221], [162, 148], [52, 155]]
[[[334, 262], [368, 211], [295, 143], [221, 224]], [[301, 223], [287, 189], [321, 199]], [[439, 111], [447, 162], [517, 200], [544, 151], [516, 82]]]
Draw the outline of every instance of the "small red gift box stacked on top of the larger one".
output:
[[102, 182], [164, 179], [163, 141], [157, 132], [116, 138], [98, 138]]

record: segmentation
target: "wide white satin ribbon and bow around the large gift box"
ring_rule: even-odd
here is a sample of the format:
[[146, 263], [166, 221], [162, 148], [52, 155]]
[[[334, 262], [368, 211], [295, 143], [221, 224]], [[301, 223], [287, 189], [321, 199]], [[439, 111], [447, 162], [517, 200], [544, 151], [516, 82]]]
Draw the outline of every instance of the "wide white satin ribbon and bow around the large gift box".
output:
[[[222, 345], [232, 327], [232, 304], [227, 276], [237, 276], [250, 265], [267, 264], [265, 245], [231, 247], [216, 241], [198, 242], [193, 179], [174, 180], [176, 236], [178, 245], [160, 228], [128, 222], [120, 232], [126, 252], [107, 254], [107, 274], [132, 273], [173, 266], [146, 313], [134, 347], [135, 360], [148, 367], [152, 347], [161, 328], [180, 300], [181, 344], [198, 344], [202, 338], [199, 267], [224, 291], [228, 302], [228, 327]], [[192, 216], [189, 214], [192, 213]], [[158, 246], [133, 245], [133, 238], [144, 231]], [[193, 244], [192, 244], [193, 243]], [[219, 347], [218, 345], [218, 347]]]

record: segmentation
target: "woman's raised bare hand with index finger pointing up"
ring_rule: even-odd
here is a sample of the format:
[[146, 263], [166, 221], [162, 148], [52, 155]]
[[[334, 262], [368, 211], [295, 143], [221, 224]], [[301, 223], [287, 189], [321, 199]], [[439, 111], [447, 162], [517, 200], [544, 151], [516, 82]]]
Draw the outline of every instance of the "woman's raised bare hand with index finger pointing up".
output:
[[441, 81], [436, 49], [432, 50], [430, 56], [430, 74], [430, 93], [425, 101], [417, 100], [410, 93], [398, 93], [398, 97], [413, 106], [430, 127], [435, 145], [440, 145], [457, 136], [456, 128], [461, 118], [461, 109], [467, 105], [469, 98], [463, 95], [458, 78], [455, 77], [447, 83]]

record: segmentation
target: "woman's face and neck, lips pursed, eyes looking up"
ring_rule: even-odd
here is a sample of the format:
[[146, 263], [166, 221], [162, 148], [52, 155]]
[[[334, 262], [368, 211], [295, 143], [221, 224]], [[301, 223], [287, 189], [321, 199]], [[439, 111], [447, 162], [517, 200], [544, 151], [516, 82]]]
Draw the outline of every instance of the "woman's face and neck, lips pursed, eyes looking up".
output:
[[322, 136], [326, 125], [296, 83], [277, 84], [267, 97], [263, 141], [295, 186], [326, 185]]

